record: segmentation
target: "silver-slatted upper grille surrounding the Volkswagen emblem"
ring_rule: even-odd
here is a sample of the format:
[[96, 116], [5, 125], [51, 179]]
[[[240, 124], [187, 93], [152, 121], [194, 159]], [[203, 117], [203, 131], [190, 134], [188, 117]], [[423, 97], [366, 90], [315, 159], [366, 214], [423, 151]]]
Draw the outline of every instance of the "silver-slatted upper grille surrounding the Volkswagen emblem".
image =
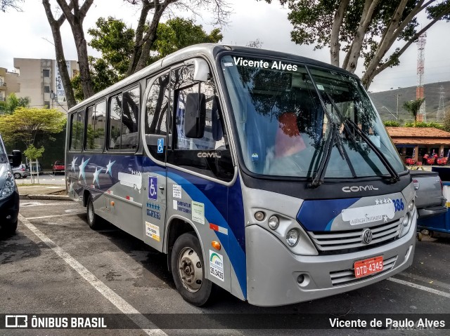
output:
[[373, 233], [371, 243], [363, 243], [362, 233], [366, 228], [348, 231], [309, 231], [312, 241], [320, 255], [352, 253], [385, 245], [394, 241], [400, 234], [401, 219], [387, 224], [369, 227]]

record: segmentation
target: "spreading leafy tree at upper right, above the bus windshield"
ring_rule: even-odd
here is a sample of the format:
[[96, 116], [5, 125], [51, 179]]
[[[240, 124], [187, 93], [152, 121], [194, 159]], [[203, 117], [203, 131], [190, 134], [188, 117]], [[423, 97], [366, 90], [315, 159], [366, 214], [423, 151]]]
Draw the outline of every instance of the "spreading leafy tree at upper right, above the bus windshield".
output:
[[[450, 20], [450, 0], [279, 1], [290, 9], [288, 20], [294, 27], [290, 36], [295, 43], [330, 48], [331, 64], [349, 72], [355, 72], [363, 58], [366, 88], [380, 72], [399, 65], [399, 57], [418, 36], [437, 21]], [[417, 29], [417, 17], [423, 11], [430, 21]], [[403, 41], [403, 46], [392, 51], [395, 41]], [[345, 52], [342, 65], [340, 52]]]

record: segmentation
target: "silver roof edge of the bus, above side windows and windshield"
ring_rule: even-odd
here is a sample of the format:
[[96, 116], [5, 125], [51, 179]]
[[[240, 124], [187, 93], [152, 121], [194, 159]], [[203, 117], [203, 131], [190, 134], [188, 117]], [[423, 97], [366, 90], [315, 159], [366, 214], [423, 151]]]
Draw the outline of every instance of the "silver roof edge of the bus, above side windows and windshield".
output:
[[309, 65], [326, 67], [328, 69], [335, 70], [338, 72], [345, 72], [350, 76], [356, 76], [350, 72], [345, 71], [340, 67], [335, 67], [325, 62], [320, 62], [318, 60], [305, 58], [291, 53], [283, 53], [281, 51], [271, 51], [267, 49], [250, 48], [243, 46], [227, 46], [224, 44], [217, 44], [217, 43], [202, 43], [202, 44], [195, 44], [193, 46], [188, 46], [186, 48], [180, 49], [179, 51], [175, 51], [170, 55], [167, 55], [165, 58], [162, 58], [161, 60], [158, 60], [153, 64], [148, 65], [148, 67], [141, 69], [139, 72], [136, 72], [135, 74], [132, 74], [131, 76], [128, 76], [125, 79], [122, 79], [122, 81], [118, 81], [109, 88], [105, 88], [105, 90], [101, 90], [100, 92], [96, 93], [90, 98], [83, 100], [79, 104], [72, 107], [69, 110], [69, 113], [74, 112], [75, 110], [79, 109], [82, 106], [89, 105], [91, 104], [91, 102], [95, 102], [96, 100], [105, 95], [110, 95], [111, 93], [114, 93], [116, 90], [119, 90], [122, 87], [126, 87], [131, 83], [135, 83], [136, 81], [139, 81], [140, 79], [152, 74], [153, 72], [158, 72], [158, 70], [162, 69], [163, 67], [167, 67], [168, 65], [199, 55], [205, 55], [210, 59], [215, 59], [217, 54], [220, 53], [221, 51], [234, 51], [238, 53], [247, 53], [255, 56], [261, 56], [262, 58], [263, 57], [285, 58], [288, 60], [295, 60], [301, 63], [307, 63]]

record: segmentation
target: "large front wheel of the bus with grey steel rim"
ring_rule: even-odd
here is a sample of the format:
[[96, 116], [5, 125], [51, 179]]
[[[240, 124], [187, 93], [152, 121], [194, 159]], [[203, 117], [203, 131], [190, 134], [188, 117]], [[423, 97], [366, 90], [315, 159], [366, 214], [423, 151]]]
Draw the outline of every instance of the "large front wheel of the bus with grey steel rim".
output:
[[205, 262], [197, 236], [191, 232], [179, 236], [170, 259], [172, 276], [181, 297], [197, 307], [207, 304], [214, 284], [205, 278]]

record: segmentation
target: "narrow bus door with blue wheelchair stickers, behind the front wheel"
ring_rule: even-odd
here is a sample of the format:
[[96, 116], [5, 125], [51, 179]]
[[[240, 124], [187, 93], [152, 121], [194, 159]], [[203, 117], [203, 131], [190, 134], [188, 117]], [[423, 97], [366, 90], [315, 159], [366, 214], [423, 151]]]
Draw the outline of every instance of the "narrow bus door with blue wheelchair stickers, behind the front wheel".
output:
[[167, 204], [167, 113], [169, 72], [148, 81], [143, 106], [143, 241], [162, 252]]

